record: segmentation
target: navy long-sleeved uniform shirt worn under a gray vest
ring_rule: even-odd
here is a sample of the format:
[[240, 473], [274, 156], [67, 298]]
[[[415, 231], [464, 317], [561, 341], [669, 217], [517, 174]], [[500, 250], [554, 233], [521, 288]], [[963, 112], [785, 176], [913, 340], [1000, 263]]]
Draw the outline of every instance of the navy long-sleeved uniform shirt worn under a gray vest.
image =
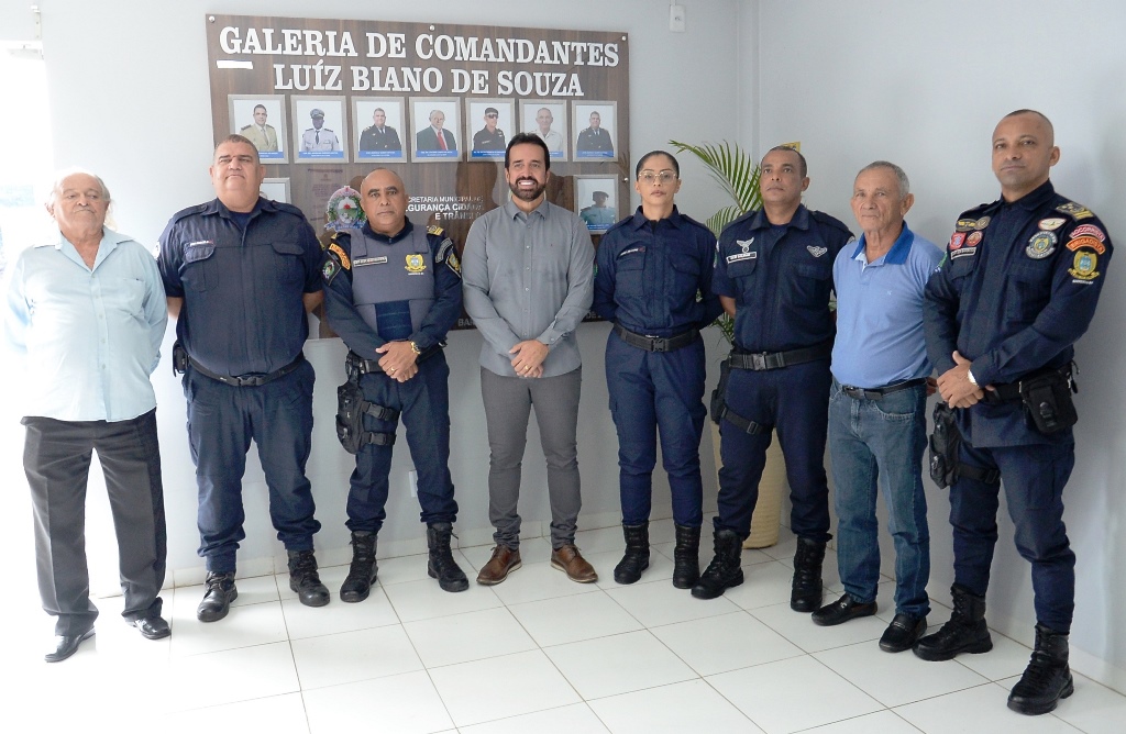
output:
[[[409, 236], [414, 229], [410, 220], [396, 235], [388, 238], [376, 234], [369, 224], [364, 224], [364, 234], [372, 240], [388, 244]], [[435, 302], [418, 331], [409, 341], [419, 349], [428, 349], [446, 339], [457, 317], [462, 314], [462, 268], [454, 251], [454, 243], [443, 233], [441, 227], [427, 229], [427, 242], [435, 262]], [[340, 232], [329, 245], [328, 261], [324, 263], [324, 307], [332, 329], [340, 334], [348, 348], [368, 359], [378, 358], [376, 349], [387, 343], [386, 339], [368, 325], [356, 311], [352, 298], [351, 236]], [[410, 275], [403, 270], [402, 277]], [[374, 356], [374, 357], [373, 357]]]

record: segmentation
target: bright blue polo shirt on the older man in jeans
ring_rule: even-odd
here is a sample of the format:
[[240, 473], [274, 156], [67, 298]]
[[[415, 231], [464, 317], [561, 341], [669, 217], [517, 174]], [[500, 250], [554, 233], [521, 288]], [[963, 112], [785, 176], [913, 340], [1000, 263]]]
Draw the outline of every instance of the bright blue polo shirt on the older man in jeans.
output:
[[865, 238], [833, 261], [837, 340], [832, 373], [842, 385], [884, 387], [927, 377], [923, 290], [942, 251], [903, 223], [895, 244], [868, 262]]

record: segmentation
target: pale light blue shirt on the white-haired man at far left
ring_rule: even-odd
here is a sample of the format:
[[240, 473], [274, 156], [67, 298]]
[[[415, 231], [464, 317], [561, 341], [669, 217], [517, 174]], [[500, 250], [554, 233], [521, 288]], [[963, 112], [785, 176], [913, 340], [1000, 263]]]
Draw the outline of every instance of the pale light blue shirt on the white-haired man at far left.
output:
[[140, 242], [104, 230], [93, 268], [62, 234], [24, 251], [5, 313], [26, 356], [24, 414], [116, 422], [151, 411], [167, 323], [157, 260]]

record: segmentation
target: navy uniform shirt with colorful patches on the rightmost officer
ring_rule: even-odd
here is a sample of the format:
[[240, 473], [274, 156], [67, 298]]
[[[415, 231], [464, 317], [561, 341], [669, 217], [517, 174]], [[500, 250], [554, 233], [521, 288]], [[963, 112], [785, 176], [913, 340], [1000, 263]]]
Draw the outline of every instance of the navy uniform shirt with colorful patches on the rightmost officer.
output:
[[[1111, 251], [1099, 218], [1051, 181], [1017, 202], [965, 212], [927, 283], [927, 351], [938, 374], [954, 367], [955, 349], [983, 387], [1066, 365], [1094, 315]], [[1071, 430], [1036, 431], [1020, 403], [958, 414], [974, 446], [1072, 440]]]

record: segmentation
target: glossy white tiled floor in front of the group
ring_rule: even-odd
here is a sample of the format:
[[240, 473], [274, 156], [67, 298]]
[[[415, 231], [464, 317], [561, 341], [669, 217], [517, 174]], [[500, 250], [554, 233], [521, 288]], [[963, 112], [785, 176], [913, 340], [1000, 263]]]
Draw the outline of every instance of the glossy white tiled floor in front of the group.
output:
[[[568, 581], [534, 539], [504, 583], [457, 594], [426, 576], [425, 556], [381, 560], [379, 583], [359, 605], [333, 594], [310, 609], [287, 578], [240, 579], [230, 616], [212, 625], [195, 618], [202, 589], [176, 589], [166, 594], [172, 637], [155, 643], [115, 620], [119, 600], [106, 599], [98, 635], [56, 665], [42, 662], [50, 627], [32, 609], [17, 628], [44, 634], [6, 642], [5, 729], [1123, 731], [1126, 697], [1081, 675], [1055, 714], [1009, 711], [1028, 650], [995, 633], [993, 652], [946, 663], [881, 652], [891, 583], [881, 585], [878, 618], [813, 625], [788, 606], [785, 529], [779, 545], [744, 552], [747, 581], [713, 601], [669, 582], [671, 523], [654, 523], [653, 537], [652, 566], [632, 587], [613, 581], [622, 539], [611, 528], [579, 534], [597, 584]], [[471, 576], [489, 558], [488, 547], [456, 553]], [[346, 572], [323, 569], [322, 579], [336, 592]], [[831, 599], [840, 593], [831, 554], [825, 580]], [[932, 621], [947, 614], [937, 608]]]

